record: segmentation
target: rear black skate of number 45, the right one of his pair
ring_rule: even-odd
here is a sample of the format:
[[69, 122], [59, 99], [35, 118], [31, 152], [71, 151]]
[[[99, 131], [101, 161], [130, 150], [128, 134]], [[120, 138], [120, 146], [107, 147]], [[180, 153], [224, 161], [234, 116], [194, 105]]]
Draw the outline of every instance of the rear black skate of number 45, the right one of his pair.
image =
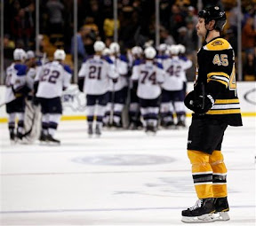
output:
[[224, 198], [215, 198], [214, 199], [214, 207], [215, 207], [215, 217], [216, 221], [228, 221], [230, 217], [228, 215], [229, 207], [228, 207], [228, 199]]

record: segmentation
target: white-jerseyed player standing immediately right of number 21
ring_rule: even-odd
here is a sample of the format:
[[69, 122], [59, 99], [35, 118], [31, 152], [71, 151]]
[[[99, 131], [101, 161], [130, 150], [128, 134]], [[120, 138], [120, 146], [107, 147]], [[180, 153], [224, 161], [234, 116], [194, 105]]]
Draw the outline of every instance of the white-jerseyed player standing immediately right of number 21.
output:
[[[128, 61], [124, 55], [120, 54], [120, 46], [118, 43], [111, 43], [109, 50], [111, 52], [110, 58], [116, 66], [118, 80], [116, 83], [112, 81], [109, 83], [109, 99], [105, 117], [108, 125], [122, 128], [122, 112], [128, 90]], [[111, 113], [113, 113], [113, 119], [111, 119]]]

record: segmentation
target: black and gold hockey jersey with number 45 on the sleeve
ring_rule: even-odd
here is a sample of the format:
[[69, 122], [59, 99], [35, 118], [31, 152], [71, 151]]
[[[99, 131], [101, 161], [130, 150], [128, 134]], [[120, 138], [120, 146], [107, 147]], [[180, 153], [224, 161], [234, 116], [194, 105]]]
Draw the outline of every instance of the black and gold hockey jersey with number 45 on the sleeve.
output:
[[[215, 103], [206, 114], [226, 121], [230, 126], [242, 126], [239, 99], [236, 90], [235, 54], [227, 40], [216, 37], [204, 43], [197, 52], [197, 68], [194, 90], [196, 95], [209, 92], [216, 82]], [[204, 87], [202, 90], [202, 87]], [[214, 86], [215, 89], [215, 86]], [[215, 92], [215, 90], [213, 91]]]

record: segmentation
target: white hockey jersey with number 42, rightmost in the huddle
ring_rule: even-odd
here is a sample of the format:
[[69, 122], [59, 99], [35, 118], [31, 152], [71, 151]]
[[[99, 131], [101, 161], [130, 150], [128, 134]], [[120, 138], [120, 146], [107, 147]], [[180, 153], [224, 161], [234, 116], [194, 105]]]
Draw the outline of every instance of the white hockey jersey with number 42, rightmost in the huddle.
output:
[[186, 70], [192, 66], [192, 61], [174, 56], [165, 58], [163, 66], [165, 71], [163, 89], [169, 91], [182, 90], [183, 82], [187, 81]]

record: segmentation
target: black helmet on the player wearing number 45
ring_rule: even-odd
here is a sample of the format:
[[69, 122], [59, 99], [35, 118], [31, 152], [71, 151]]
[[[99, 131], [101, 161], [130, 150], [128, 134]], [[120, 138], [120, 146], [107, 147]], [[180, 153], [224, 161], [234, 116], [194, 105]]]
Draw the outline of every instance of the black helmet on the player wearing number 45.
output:
[[212, 19], [215, 20], [214, 29], [221, 31], [226, 24], [226, 13], [220, 10], [219, 6], [212, 6], [198, 12], [198, 17], [204, 18], [205, 24]]

